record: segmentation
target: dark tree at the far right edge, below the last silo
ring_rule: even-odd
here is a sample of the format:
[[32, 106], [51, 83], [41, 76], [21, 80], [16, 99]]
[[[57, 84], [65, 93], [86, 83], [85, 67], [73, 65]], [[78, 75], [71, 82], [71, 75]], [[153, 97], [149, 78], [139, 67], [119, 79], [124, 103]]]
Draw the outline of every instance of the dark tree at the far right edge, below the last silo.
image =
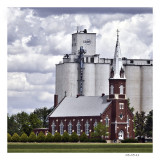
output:
[[145, 133], [147, 137], [152, 137], [152, 128], [153, 128], [153, 110], [151, 110], [149, 114], [146, 116]]

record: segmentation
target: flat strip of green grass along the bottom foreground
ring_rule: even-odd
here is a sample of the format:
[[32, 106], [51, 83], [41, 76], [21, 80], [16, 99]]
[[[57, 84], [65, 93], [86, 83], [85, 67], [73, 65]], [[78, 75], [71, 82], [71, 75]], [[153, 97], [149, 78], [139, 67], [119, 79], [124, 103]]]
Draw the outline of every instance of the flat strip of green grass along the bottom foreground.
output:
[[8, 143], [8, 153], [152, 153], [149, 144]]

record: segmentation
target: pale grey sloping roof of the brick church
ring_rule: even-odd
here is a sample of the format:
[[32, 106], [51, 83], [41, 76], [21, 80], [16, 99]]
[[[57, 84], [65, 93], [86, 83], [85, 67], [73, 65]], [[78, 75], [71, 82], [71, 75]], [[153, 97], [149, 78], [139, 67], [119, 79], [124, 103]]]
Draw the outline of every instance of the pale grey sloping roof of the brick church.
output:
[[107, 96], [65, 97], [50, 117], [100, 116], [110, 103]]

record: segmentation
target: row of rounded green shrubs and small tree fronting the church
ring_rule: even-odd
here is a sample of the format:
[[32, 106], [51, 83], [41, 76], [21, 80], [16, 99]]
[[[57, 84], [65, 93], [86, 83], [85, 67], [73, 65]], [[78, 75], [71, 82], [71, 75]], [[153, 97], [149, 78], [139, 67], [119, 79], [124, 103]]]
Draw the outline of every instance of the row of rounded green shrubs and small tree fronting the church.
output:
[[104, 137], [108, 135], [107, 130], [108, 127], [99, 122], [90, 136], [87, 136], [84, 132], [80, 136], [76, 132], [69, 135], [66, 131], [63, 135], [60, 135], [59, 132], [56, 132], [54, 135], [48, 132], [47, 135], [44, 135], [41, 131], [38, 136], [34, 132], [31, 132], [29, 136], [26, 133], [22, 133], [21, 136], [17, 133], [11, 136], [8, 133], [7, 139], [8, 142], [106, 142]]

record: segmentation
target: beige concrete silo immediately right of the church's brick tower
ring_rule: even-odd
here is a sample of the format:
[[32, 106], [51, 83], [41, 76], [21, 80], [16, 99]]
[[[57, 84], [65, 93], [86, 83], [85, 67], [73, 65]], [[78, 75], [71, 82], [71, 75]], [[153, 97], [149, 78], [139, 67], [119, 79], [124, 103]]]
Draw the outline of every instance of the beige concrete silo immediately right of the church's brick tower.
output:
[[130, 99], [130, 107], [134, 112], [140, 112], [141, 100], [141, 67], [126, 66], [126, 95]]

